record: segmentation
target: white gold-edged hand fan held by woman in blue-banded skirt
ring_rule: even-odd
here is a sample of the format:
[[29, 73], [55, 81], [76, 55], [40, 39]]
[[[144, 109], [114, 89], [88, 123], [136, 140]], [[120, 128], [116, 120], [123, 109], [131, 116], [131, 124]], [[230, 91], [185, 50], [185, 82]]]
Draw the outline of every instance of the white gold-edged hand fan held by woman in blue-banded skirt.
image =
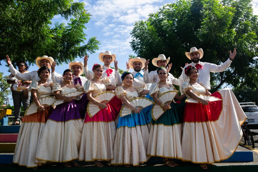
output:
[[[146, 108], [152, 104], [154, 104], [153, 101], [150, 99], [147, 99], [146, 97], [136, 97], [129, 101], [131, 105], [133, 105], [135, 108], [143, 109]], [[132, 109], [128, 108], [127, 106], [123, 105], [120, 109], [120, 117], [124, 117], [126, 115], [129, 115], [131, 113], [134, 113]]]

